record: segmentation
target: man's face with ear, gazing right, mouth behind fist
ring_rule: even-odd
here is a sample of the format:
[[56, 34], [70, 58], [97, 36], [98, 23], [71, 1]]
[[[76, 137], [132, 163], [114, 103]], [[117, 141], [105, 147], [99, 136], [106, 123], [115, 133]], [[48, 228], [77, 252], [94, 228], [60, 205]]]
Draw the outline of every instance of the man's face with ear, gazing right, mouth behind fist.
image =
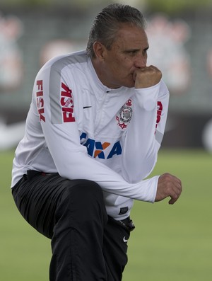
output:
[[146, 67], [148, 39], [143, 29], [122, 24], [111, 50], [105, 50], [101, 81], [108, 88], [134, 87], [134, 71]]

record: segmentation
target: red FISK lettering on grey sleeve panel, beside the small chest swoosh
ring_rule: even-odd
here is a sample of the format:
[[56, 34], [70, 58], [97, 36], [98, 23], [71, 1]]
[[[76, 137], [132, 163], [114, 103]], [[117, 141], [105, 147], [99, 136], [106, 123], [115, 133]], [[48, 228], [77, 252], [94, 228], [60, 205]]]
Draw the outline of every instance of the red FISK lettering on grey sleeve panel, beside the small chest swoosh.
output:
[[64, 83], [61, 83], [60, 104], [64, 122], [75, 122], [75, 117], [73, 116], [73, 97], [71, 93], [71, 89]]

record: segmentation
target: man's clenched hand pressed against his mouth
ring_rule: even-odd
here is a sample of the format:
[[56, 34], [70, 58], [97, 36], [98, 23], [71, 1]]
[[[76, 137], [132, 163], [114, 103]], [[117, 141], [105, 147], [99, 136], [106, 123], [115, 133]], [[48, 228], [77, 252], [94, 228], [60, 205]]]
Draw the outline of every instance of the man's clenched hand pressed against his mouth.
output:
[[153, 65], [136, 69], [134, 72], [135, 88], [148, 88], [154, 86], [160, 82], [161, 78], [161, 71]]

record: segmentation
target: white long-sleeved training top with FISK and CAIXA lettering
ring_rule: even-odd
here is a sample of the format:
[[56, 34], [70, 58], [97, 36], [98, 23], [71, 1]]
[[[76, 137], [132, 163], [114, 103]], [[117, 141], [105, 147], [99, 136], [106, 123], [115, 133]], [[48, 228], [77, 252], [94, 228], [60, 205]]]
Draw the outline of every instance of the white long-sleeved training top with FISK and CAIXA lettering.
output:
[[86, 51], [49, 60], [35, 79], [11, 187], [28, 170], [93, 180], [107, 214], [128, 217], [134, 200], [155, 201], [159, 176], [145, 178], [157, 161], [168, 100], [162, 80], [149, 88], [107, 88]]

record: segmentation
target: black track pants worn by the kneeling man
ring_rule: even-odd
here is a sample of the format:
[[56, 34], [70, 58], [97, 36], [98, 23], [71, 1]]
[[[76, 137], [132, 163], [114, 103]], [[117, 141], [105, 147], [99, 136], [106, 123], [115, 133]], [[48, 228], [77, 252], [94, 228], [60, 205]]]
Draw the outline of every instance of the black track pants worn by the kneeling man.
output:
[[52, 239], [50, 281], [122, 280], [129, 229], [107, 217], [97, 183], [28, 171], [12, 192], [27, 222]]

